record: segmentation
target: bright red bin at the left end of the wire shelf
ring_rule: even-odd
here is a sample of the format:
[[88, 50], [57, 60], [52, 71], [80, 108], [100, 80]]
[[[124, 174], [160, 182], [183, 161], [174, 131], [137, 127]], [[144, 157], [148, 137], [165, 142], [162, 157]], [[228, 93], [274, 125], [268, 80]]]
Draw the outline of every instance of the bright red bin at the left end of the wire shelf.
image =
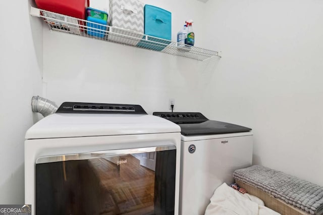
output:
[[89, 0], [35, 0], [39, 9], [66, 16], [85, 19], [85, 8], [90, 6]]

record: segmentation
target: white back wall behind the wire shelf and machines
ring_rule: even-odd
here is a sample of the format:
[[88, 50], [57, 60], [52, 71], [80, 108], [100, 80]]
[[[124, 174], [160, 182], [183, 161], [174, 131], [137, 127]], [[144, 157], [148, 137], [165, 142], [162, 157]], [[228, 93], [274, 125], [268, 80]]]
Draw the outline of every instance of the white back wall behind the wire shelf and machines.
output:
[[[146, 1], [173, 14], [173, 39], [185, 20], [201, 23], [204, 4]], [[199, 31], [197, 28], [197, 32]], [[198, 44], [198, 42], [197, 42]], [[202, 73], [214, 67], [217, 59], [198, 62], [120, 44], [43, 31], [44, 96], [56, 101], [136, 103], [152, 113], [168, 111], [169, 98], [175, 110], [199, 110], [204, 83]]]

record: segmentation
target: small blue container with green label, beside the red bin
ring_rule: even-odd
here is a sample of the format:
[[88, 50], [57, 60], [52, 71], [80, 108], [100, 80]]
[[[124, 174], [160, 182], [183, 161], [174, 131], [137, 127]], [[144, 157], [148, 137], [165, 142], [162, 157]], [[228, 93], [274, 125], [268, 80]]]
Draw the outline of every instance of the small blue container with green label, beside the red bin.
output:
[[[98, 24], [102, 24], [102, 25], [97, 25], [94, 23], [86, 23], [87, 27], [92, 27], [92, 28], [87, 28], [87, 34], [91, 35], [91, 36], [96, 36], [96, 37], [104, 37], [104, 35], [106, 34], [104, 31], [106, 31], [107, 29], [107, 13], [104, 11], [99, 11], [96, 10], [94, 8], [86, 8], [86, 15], [87, 21], [90, 22], [96, 22]], [[93, 29], [95, 28], [95, 29]], [[96, 30], [97, 29], [97, 30]], [[104, 30], [104, 31], [100, 31], [100, 30]]]

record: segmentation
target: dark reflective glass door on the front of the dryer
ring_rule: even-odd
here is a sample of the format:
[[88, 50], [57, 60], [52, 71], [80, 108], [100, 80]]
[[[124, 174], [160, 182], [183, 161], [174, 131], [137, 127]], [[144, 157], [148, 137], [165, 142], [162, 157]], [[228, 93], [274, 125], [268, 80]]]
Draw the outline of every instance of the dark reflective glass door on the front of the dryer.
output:
[[174, 145], [39, 157], [37, 214], [174, 214]]

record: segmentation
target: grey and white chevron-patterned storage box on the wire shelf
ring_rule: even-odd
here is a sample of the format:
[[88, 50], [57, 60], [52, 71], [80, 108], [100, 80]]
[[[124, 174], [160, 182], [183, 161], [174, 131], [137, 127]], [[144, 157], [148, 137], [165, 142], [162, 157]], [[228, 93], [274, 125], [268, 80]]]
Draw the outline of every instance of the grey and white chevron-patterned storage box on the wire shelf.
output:
[[[110, 26], [118, 28], [111, 29], [112, 34], [109, 35], [109, 40], [122, 42], [122, 38], [113, 36], [116, 33], [136, 37], [140, 41], [144, 33], [143, 6], [144, 4], [137, 0], [110, 0], [108, 23]], [[128, 31], [123, 31], [122, 29], [127, 29]], [[133, 31], [133, 33], [129, 32], [129, 30]], [[137, 45], [138, 41], [133, 40], [131, 45]]]

